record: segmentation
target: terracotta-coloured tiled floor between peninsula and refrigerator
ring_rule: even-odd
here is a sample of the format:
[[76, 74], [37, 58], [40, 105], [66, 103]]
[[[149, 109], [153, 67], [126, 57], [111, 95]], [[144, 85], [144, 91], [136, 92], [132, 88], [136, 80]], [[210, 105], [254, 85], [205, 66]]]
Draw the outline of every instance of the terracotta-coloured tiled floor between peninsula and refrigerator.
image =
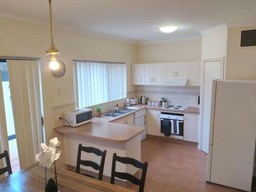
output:
[[[167, 191], [241, 191], [205, 182], [207, 155], [194, 146], [145, 139], [142, 143], [142, 162], [148, 162], [146, 192]], [[138, 191], [131, 184], [130, 189]]]

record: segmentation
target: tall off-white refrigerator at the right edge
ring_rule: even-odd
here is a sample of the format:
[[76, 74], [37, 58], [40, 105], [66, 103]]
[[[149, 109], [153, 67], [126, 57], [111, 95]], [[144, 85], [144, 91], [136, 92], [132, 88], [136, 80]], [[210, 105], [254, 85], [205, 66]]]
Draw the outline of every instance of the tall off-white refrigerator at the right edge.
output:
[[251, 191], [255, 138], [256, 81], [213, 81], [206, 181]]

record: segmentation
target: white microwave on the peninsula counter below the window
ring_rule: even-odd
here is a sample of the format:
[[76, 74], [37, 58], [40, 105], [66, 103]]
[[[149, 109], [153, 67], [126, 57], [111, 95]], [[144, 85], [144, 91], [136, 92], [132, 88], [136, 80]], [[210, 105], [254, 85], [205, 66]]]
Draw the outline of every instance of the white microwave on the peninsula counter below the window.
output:
[[91, 109], [76, 109], [65, 112], [65, 125], [79, 126], [89, 123], [93, 120], [93, 112]]

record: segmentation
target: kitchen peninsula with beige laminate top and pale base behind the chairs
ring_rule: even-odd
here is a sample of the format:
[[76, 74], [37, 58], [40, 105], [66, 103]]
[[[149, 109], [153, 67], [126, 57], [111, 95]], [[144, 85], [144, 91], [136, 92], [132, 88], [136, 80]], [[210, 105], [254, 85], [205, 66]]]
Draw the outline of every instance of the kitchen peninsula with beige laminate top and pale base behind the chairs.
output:
[[[141, 161], [140, 133], [143, 127], [113, 123], [111, 117], [93, 118], [93, 121], [78, 127], [60, 126], [55, 132], [63, 134], [65, 140], [66, 164], [76, 166], [78, 145], [91, 146], [106, 150], [104, 176], [111, 177], [113, 154], [131, 157]], [[82, 153], [81, 159], [91, 160], [100, 164], [101, 157], [94, 154]], [[98, 173], [91, 167], [81, 166], [82, 169]], [[118, 172], [126, 172], [134, 175], [137, 168], [121, 163], [116, 164]]]

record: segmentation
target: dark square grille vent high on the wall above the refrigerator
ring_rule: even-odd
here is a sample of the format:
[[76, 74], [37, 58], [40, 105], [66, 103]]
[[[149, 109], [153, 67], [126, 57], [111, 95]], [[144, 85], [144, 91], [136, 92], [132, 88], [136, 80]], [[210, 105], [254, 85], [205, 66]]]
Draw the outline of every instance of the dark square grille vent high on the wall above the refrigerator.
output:
[[256, 29], [241, 30], [240, 47], [256, 47]]

